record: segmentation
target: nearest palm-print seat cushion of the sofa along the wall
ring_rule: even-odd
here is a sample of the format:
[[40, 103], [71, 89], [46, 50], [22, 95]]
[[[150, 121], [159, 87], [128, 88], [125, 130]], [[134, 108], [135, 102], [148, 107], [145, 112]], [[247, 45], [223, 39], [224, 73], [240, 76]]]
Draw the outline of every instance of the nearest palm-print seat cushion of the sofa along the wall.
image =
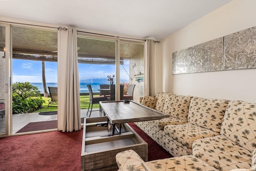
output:
[[224, 135], [198, 139], [193, 155], [219, 170], [250, 169], [252, 153]]

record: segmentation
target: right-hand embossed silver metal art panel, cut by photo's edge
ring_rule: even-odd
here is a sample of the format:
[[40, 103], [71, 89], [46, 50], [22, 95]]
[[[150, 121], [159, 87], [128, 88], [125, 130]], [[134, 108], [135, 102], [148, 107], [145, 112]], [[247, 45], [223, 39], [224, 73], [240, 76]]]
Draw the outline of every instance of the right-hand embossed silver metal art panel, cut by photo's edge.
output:
[[256, 27], [224, 36], [224, 70], [256, 68]]

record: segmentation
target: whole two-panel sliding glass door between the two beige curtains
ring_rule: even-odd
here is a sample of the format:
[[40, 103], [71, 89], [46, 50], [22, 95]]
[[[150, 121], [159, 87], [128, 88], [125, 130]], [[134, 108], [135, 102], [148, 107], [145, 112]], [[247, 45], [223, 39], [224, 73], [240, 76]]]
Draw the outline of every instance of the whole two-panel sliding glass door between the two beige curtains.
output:
[[[138, 101], [143, 96], [144, 42], [79, 35], [77, 45], [81, 118], [99, 116], [98, 112], [90, 116], [91, 107], [96, 111], [99, 104], [89, 103], [87, 84], [91, 85], [94, 97], [104, 97], [101, 101]], [[134, 88], [130, 91], [129, 87]]]

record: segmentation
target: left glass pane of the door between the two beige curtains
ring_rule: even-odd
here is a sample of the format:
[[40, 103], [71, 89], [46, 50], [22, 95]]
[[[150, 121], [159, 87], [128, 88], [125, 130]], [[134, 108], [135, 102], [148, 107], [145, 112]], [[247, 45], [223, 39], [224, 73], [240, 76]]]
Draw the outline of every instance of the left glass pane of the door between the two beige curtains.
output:
[[99, 109], [99, 103], [89, 103], [88, 84], [92, 88], [93, 97], [102, 96], [101, 100], [115, 99], [115, 92], [110, 95], [110, 87], [116, 83], [116, 41], [78, 36], [77, 42], [81, 118], [84, 118], [90, 116], [91, 110]]

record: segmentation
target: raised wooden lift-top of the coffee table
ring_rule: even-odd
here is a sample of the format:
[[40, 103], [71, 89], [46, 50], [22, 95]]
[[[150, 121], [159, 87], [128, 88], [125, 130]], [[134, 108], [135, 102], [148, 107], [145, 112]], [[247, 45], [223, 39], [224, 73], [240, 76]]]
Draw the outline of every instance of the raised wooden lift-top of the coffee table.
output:
[[151, 109], [132, 100], [130, 100], [130, 103], [124, 103], [123, 101], [100, 101], [100, 106], [111, 123], [150, 121], [170, 117], [168, 114]]

